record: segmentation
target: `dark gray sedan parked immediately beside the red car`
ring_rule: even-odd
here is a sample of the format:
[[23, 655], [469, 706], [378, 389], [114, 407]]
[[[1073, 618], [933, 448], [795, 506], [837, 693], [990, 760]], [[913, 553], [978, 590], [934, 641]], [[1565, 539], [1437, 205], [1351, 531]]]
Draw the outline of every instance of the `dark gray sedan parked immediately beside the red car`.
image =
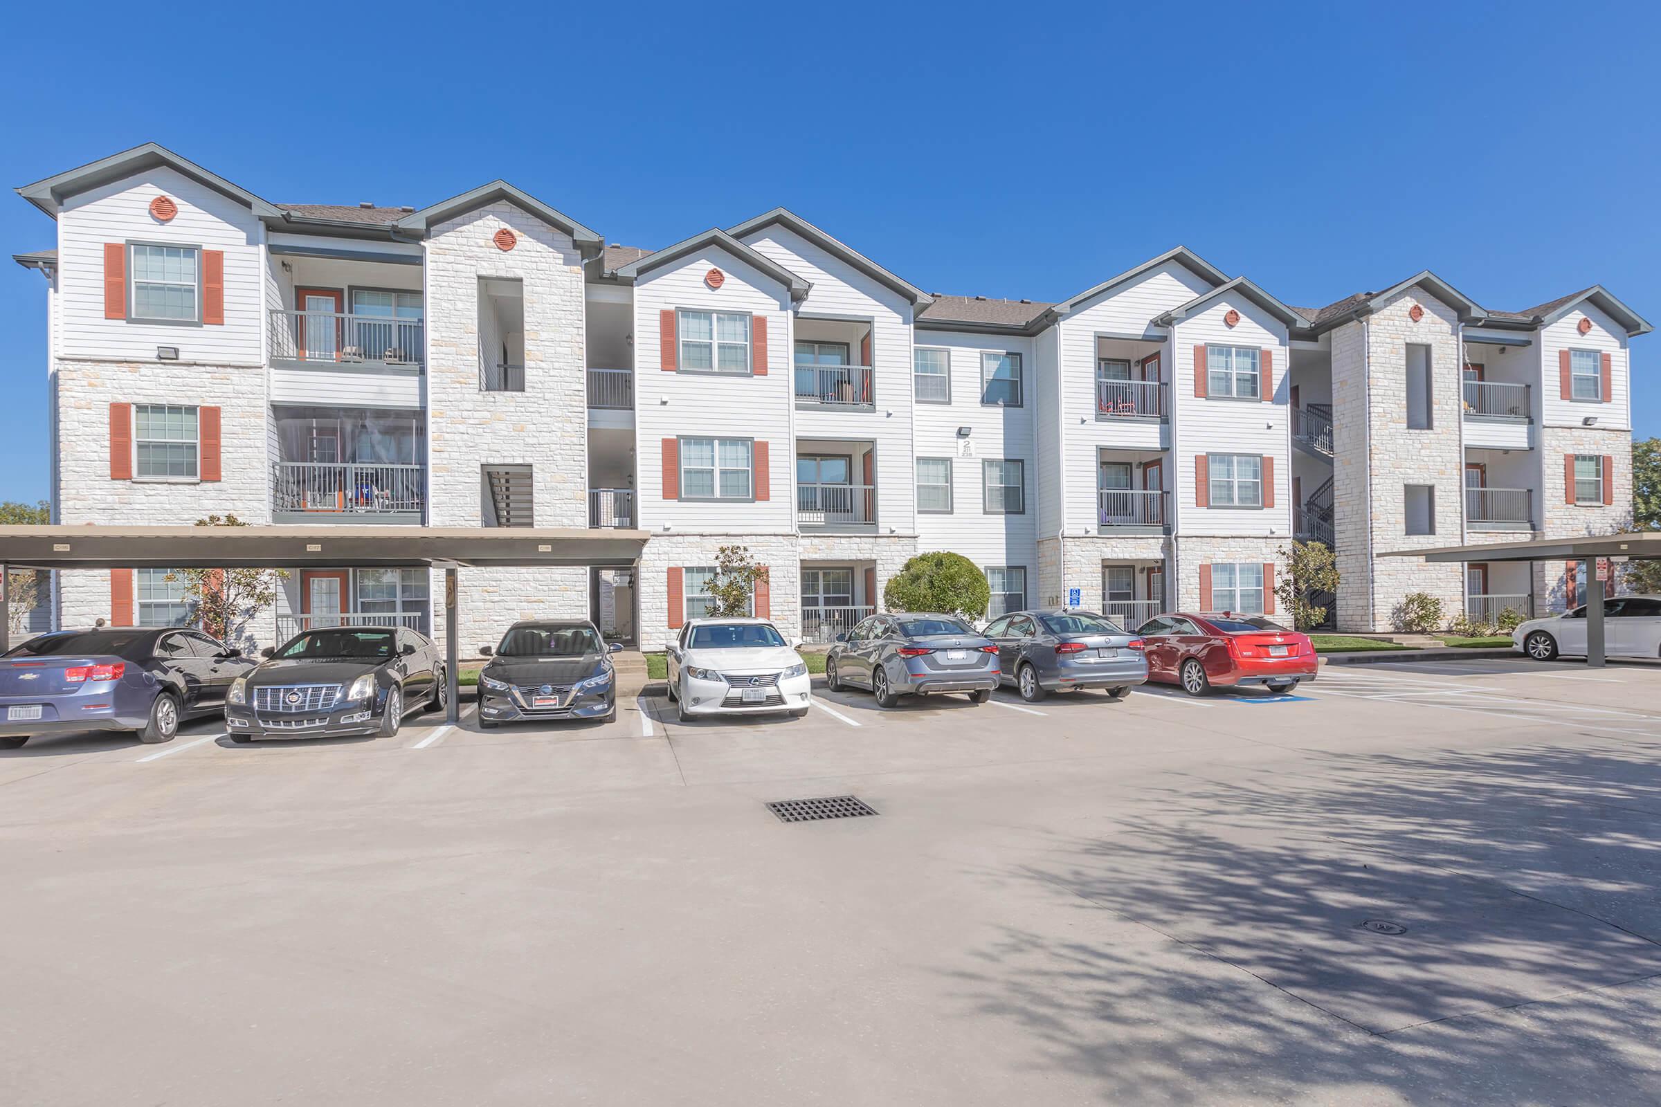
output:
[[1120, 699], [1148, 679], [1143, 641], [1090, 611], [1015, 611], [987, 627], [998, 675], [1035, 704], [1048, 692], [1106, 689]]

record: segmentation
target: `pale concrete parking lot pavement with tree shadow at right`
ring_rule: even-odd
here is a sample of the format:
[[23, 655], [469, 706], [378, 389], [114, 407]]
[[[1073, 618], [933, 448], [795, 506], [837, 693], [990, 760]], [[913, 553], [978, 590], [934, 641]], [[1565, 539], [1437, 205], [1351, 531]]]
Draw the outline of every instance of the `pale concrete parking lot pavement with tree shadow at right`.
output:
[[5, 1100], [1661, 1102], [1661, 667], [814, 699], [0, 753]]

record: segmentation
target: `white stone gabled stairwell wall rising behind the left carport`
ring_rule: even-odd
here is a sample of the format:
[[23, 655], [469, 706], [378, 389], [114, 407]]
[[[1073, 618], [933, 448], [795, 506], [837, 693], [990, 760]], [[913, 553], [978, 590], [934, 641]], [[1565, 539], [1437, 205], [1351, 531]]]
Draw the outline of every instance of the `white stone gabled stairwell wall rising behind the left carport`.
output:
[[[517, 244], [495, 244], [507, 227]], [[525, 392], [478, 378], [478, 280], [525, 292]], [[432, 229], [427, 241], [429, 521], [480, 526], [482, 468], [530, 465], [537, 526], [588, 526], [588, 400], [581, 257], [571, 237], [507, 201]], [[493, 644], [513, 619], [586, 617], [586, 569], [462, 569], [460, 647]], [[443, 641], [443, 574], [432, 584]]]

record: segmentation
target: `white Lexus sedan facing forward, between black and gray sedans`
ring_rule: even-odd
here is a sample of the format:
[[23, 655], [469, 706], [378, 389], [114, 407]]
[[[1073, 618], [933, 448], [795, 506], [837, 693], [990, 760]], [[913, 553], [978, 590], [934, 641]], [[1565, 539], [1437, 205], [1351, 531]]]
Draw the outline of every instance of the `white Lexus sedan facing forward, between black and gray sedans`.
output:
[[689, 619], [669, 646], [669, 699], [698, 715], [789, 712], [809, 700], [807, 664], [766, 619]]

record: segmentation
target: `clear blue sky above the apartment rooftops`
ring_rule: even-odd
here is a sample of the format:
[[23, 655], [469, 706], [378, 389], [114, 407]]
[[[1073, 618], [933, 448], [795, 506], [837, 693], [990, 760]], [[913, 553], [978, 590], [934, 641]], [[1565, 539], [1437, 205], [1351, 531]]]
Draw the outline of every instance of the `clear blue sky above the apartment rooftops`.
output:
[[[0, 183], [153, 139], [276, 202], [500, 176], [630, 246], [782, 204], [938, 292], [1181, 242], [1289, 304], [1433, 269], [1661, 324], [1661, 5], [515, 7], [13, 5]], [[8, 256], [53, 226], [7, 193], [0, 241], [0, 498], [38, 498], [45, 282]]]

